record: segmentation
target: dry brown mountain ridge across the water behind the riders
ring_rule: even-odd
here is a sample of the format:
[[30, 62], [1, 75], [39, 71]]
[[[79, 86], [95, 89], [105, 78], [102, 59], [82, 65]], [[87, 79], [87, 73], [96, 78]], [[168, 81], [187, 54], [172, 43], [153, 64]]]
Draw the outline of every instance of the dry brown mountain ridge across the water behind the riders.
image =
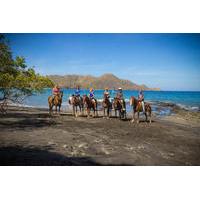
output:
[[121, 87], [124, 90], [160, 90], [159, 88], [149, 88], [146, 85], [137, 85], [129, 80], [120, 79], [113, 74], [104, 74], [100, 77], [94, 77], [90, 75], [49, 75], [47, 76], [55, 84], [59, 84], [61, 87], [74, 88], [76, 85], [80, 85], [81, 88], [104, 89], [117, 89]]

